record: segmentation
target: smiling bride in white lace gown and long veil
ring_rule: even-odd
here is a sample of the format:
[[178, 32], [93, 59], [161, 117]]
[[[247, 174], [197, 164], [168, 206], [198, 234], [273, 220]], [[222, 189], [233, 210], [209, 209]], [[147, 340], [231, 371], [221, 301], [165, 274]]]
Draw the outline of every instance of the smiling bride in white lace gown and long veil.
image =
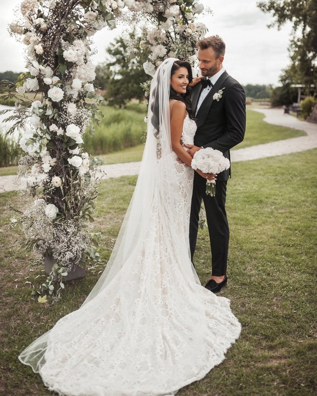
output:
[[[194, 170], [189, 63], [153, 78], [138, 182], [109, 263], [81, 307], [19, 356], [50, 390], [72, 396], [165, 396], [224, 359], [240, 324], [200, 285], [189, 252]], [[198, 173], [212, 179], [215, 175]]]

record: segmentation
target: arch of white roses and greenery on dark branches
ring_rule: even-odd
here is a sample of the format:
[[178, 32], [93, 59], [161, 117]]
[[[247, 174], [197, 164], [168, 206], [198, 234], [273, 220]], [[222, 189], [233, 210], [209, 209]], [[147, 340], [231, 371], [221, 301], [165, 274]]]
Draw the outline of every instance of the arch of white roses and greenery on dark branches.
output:
[[[18, 99], [8, 120], [14, 121], [11, 131], [18, 127], [22, 133], [20, 183], [35, 198], [24, 213], [17, 211], [20, 217], [12, 224], [22, 226], [24, 246], [55, 261], [34, 294], [59, 299], [72, 268], [99, 259], [93, 247], [96, 235], [87, 227], [98, 195], [98, 163], [82, 146], [82, 135], [93, 133], [92, 120], [98, 120], [103, 103], [93, 85], [89, 38], [105, 26], [114, 28], [116, 20], [147, 21], [140, 46], [150, 53], [143, 67], [153, 76], [166, 57], [194, 65], [195, 43], [207, 31], [195, 22], [203, 8], [196, 0], [21, 2], [21, 19], [10, 30], [27, 46], [28, 71], [17, 84], [2, 82], [0, 95]], [[37, 100], [29, 99], [29, 93]]]

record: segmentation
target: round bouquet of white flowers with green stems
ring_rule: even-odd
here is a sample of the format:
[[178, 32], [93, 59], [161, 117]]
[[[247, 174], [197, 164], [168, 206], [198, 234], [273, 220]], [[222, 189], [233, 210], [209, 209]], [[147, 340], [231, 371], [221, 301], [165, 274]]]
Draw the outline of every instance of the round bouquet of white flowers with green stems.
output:
[[[191, 166], [193, 169], [199, 169], [204, 173], [218, 173], [229, 169], [230, 161], [225, 158], [221, 151], [214, 150], [211, 147], [207, 147], [197, 151], [192, 159]], [[207, 180], [206, 183], [206, 195], [215, 197], [216, 195], [216, 180]]]

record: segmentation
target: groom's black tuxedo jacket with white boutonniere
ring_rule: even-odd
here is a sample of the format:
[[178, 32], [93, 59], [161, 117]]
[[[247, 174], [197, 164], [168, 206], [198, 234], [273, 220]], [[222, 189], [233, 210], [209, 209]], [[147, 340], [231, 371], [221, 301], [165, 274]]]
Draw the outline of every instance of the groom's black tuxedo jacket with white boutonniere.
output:
[[[222, 98], [213, 99], [220, 89]], [[196, 111], [201, 84], [192, 89], [192, 107]], [[222, 73], [216, 84], [201, 103], [198, 113], [198, 128], [194, 143], [198, 147], [212, 147], [220, 150], [230, 160], [230, 149], [240, 143], [245, 133], [245, 93], [237, 80], [227, 72]], [[231, 176], [231, 169], [219, 173], [217, 180], [225, 181]]]

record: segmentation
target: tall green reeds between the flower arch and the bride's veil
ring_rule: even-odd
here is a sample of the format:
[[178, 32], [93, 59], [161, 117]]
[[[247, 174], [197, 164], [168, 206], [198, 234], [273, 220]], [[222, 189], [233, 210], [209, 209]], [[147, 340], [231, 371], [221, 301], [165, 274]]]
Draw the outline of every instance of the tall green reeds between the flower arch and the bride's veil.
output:
[[103, 118], [95, 126], [95, 134], [84, 134], [83, 140], [87, 152], [91, 155], [106, 154], [126, 147], [140, 144], [146, 130], [144, 117], [145, 102], [129, 103], [125, 109], [100, 107]]

